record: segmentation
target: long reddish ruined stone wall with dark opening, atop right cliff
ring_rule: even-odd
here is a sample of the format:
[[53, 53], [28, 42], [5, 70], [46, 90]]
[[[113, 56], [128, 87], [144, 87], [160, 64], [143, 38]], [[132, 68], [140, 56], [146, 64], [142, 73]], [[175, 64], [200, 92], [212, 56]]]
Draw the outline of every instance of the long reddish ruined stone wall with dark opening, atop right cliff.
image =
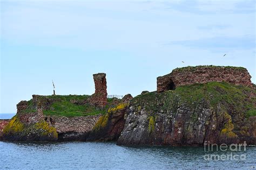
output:
[[194, 83], [225, 81], [235, 85], [252, 87], [251, 75], [246, 68], [197, 66], [172, 70], [170, 74], [157, 77], [157, 91], [174, 90], [178, 86]]

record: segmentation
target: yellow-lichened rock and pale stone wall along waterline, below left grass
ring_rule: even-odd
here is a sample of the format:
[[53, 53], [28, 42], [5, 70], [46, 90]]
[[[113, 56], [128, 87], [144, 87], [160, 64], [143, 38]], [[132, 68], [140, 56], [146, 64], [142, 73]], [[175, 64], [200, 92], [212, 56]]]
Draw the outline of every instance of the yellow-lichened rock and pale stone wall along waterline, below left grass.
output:
[[17, 114], [5, 127], [3, 139], [12, 141], [85, 141], [87, 134], [100, 117], [101, 115], [44, 116], [37, 122], [33, 122], [34, 119], [32, 122], [22, 122], [23, 115], [19, 117]]

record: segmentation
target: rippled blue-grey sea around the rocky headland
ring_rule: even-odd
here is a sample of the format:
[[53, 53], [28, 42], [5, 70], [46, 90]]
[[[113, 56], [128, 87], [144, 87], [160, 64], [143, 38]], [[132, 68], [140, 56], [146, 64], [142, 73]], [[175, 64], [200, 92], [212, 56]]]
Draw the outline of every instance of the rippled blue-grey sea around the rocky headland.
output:
[[[8, 116], [0, 114], [0, 119], [6, 117], [8, 118]], [[227, 151], [220, 149], [217, 151], [217, 147], [211, 150], [211, 147], [208, 146], [129, 147], [118, 146], [113, 142], [25, 143], [0, 141], [0, 169], [256, 168], [256, 146], [241, 147], [240, 150], [234, 150], [235, 146], [232, 147], [228, 146]]]

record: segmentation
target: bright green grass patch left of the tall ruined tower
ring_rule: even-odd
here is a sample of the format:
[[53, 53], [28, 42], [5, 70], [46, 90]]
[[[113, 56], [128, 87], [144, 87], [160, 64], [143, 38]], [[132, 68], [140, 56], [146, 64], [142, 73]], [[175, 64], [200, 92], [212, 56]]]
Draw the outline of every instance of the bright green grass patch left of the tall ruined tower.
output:
[[[43, 105], [44, 115], [58, 115], [58, 116], [88, 116], [104, 114], [107, 107], [98, 109], [88, 103], [84, 103], [89, 95], [56, 95], [56, 96], [39, 96], [38, 104]], [[108, 99], [111, 103], [112, 99]], [[28, 109], [23, 112], [35, 112], [35, 103], [32, 99], [28, 101]]]

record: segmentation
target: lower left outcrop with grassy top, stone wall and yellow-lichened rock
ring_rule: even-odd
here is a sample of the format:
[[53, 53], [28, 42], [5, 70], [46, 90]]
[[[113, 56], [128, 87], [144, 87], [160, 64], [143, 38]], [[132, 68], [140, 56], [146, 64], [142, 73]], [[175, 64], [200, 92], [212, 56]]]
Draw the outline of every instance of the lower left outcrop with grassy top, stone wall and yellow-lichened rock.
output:
[[[39, 96], [17, 104], [17, 114], [3, 131], [4, 140], [70, 141], [86, 139], [109, 107], [93, 107], [90, 96]], [[118, 101], [120, 102], [120, 100]]]

